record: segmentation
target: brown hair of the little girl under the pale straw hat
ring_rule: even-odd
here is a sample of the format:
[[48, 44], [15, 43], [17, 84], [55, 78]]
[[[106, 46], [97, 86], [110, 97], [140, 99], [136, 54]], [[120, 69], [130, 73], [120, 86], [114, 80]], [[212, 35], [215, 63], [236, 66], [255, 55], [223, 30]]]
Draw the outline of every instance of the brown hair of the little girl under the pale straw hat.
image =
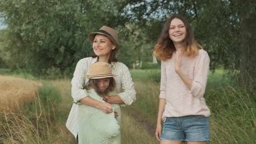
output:
[[86, 91], [93, 88], [99, 96], [102, 96], [102, 97], [107, 96], [109, 92], [112, 92], [115, 89], [115, 85], [116, 85], [114, 78], [110, 77], [107, 79], [109, 79], [109, 85], [104, 92], [99, 91], [97, 86], [97, 82], [98, 82], [97, 79], [89, 79], [89, 81], [83, 86], [83, 88], [86, 89]]

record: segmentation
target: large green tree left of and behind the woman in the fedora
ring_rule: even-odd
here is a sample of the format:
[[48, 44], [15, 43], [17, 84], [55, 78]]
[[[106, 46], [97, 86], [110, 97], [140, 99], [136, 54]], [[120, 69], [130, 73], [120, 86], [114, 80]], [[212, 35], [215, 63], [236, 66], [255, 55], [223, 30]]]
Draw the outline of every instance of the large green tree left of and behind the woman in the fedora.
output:
[[73, 72], [76, 62], [92, 52], [87, 35], [120, 23], [117, 6], [115, 0], [0, 0], [12, 37], [5, 39], [4, 52], [18, 52], [19, 60], [10, 59], [35, 75], [51, 68]]

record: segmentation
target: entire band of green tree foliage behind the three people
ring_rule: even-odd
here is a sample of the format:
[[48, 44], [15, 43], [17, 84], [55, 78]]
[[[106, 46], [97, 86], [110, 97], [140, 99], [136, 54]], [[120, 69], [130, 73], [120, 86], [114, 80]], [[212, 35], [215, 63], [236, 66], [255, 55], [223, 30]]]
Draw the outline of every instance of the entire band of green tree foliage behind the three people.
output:
[[0, 0], [0, 8], [8, 25], [0, 56], [13, 68], [72, 72], [92, 52], [87, 35], [102, 25], [118, 30], [118, 60], [141, 66], [152, 61], [164, 22], [179, 13], [209, 53], [211, 69], [223, 65], [243, 85], [256, 81], [255, 0]]

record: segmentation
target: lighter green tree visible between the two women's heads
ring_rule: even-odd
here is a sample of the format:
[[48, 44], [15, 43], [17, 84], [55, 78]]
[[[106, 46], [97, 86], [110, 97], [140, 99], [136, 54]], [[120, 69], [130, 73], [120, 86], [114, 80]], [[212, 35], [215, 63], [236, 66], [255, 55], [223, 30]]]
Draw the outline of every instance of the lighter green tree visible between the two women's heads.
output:
[[152, 62], [154, 41], [151, 36], [146, 35], [145, 30], [151, 27], [151, 23], [144, 27], [136, 26], [127, 22], [125, 28], [119, 30], [122, 44], [118, 54], [118, 60], [124, 62], [128, 67], [135, 66], [140, 69], [144, 62]]

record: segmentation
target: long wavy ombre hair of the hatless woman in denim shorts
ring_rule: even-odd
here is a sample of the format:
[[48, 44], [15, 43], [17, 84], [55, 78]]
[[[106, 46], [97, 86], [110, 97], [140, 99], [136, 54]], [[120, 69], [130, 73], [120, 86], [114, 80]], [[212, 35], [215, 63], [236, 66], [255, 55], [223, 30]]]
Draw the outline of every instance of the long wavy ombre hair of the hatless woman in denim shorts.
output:
[[180, 19], [186, 27], [187, 35], [184, 39], [185, 54], [187, 56], [196, 56], [199, 49], [203, 49], [194, 39], [194, 33], [188, 20], [179, 14], [174, 14], [164, 24], [161, 36], [158, 38], [157, 44], [154, 46], [153, 56], [157, 56], [161, 60], [167, 60], [172, 58], [173, 52], [176, 51], [173, 41], [169, 36], [170, 24], [173, 19]]

